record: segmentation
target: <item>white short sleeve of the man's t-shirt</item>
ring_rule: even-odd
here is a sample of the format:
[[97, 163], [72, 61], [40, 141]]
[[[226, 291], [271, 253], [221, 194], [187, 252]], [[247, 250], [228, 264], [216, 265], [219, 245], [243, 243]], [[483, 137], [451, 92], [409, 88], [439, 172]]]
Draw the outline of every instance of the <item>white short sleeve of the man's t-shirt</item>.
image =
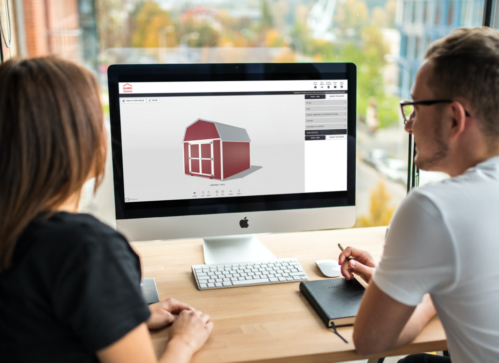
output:
[[440, 210], [413, 191], [396, 211], [373, 281], [402, 304], [418, 305], [426, 293], [443, 293], [456, 279], [455, 247]]

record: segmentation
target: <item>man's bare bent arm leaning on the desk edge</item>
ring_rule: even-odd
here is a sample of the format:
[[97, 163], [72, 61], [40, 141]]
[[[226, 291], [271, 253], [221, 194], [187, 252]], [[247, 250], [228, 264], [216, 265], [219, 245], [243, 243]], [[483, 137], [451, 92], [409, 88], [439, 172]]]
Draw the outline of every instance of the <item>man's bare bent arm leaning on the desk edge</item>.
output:
[[407, 344], [434, 315], [429, 295], [417, 307], [409, 306], [392, 299], [371, 281], [355, 319], [355, 349], [359, 355], [369, 356]]

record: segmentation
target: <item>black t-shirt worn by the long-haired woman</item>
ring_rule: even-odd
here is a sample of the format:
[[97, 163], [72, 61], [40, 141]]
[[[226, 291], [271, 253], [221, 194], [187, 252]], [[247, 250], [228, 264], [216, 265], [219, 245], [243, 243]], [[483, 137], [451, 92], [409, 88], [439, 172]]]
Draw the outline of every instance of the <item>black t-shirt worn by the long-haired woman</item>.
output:
[[96, 218], [36, 218], [0, 273], [0, 361], [98, 362], [149, 318], [140, 277], [126, 239]]

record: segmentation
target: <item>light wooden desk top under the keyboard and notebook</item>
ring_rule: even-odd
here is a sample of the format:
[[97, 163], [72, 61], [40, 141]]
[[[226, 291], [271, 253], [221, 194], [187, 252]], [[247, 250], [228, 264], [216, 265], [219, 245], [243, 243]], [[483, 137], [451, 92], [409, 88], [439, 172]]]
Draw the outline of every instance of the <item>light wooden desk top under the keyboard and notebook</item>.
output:
[[[314, 260], [338, 258], [337, 243], [383, 252], [386, 227], [264, 234], [258, 238], [277, 258], [297, 257], [310, 280], [324, 278]], [[143, 277], [155, 277], [161, 299], [173, 297], [211, 315], [215, 323], [193, 362], [331, 363], [362, 359], [352, 343], [353, 327], [338, 328], [345, 344], [319, 319], [298, 290], [298, 282], [199, 291], [191, 265], [203, 264], [201, 239], [132, 243], [142, 260]], [[158, 356], [168, 328], [151, 333]], [[447, 350], [434, 318], [409, 345], [380, 357]]]

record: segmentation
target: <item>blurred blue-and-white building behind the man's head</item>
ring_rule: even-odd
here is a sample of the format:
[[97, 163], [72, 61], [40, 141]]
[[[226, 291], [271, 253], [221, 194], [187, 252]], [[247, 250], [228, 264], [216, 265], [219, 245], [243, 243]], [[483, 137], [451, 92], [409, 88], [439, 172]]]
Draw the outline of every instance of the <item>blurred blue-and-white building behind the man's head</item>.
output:
[[398, 0], [400, 58], [410, 65], [409, 86], [431, 43], [458, 27], [482, 26], [483, 13], [483, 0]]

